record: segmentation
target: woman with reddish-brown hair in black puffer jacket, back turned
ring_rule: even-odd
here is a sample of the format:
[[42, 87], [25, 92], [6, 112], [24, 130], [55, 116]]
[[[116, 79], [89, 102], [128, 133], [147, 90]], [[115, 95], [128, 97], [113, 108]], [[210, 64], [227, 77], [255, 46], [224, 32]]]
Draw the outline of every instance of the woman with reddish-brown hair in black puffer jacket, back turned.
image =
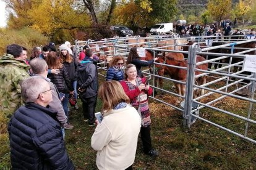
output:
[[48, 74], [47, 77], [51, 79], [51, 82], [57, 87], [59, 92], [65, 94], [65, 97], [62, 100], [62, 105], [65, 115], [67, 116], [67, 123], [64, 125], [64, 128], [72, 129], [74, 126], [69, 124], [69, 111], [67, 105], [69, 103], [69, 94], [74, 92], [74, 88], [70, 81], [69, 73], [67, 73], [66, 67], [64, 67], [64, 65], [58, 59], [56, 52], [49, 52], [45, 61], [49, 69], [59, 69], [58, 74]]

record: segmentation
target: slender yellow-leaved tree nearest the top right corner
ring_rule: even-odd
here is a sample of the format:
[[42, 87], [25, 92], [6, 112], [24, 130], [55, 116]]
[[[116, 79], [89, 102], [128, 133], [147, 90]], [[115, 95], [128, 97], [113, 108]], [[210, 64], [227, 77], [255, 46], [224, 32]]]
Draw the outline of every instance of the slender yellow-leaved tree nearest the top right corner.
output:
[[245, 14], [249, 12], [251, 4], [252, 4], [252, 1], [242, 1], [242, 0], [239, 0], [239, 2], [236, 4], [236, 8], [234, 12], [237, 17], [242, 17], [243, 24], [244, 24]]

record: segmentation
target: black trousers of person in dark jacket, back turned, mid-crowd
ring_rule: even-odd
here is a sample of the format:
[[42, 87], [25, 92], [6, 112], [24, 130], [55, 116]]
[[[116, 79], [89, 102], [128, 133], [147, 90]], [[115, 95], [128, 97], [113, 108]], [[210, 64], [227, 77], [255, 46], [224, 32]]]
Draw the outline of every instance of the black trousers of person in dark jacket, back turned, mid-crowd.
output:
[[95, 122], [95, 107], [97, 104], [97, 95], [90, 98], [83, 98], [83, 118], [89, 119], [88, 123], [92, 124]]

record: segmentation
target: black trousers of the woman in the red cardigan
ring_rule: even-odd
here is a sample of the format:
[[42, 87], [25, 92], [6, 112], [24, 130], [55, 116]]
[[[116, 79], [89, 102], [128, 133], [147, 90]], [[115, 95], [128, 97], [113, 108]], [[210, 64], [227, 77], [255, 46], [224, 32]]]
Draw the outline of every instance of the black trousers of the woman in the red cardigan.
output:
[[143, 151], [148, 153], [152, 148], [150, 126], [140, 127], [140, 137], [142, 138]]

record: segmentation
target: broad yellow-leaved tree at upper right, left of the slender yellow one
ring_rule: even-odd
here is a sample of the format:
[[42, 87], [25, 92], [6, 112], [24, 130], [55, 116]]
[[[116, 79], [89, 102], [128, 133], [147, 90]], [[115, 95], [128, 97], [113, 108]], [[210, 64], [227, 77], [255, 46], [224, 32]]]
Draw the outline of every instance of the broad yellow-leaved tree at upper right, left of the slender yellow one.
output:
[[211, 0], [207, 4], [207, 10], [217, 22], [220, 22], [231, 11], [231, 4], [231, 0]]

